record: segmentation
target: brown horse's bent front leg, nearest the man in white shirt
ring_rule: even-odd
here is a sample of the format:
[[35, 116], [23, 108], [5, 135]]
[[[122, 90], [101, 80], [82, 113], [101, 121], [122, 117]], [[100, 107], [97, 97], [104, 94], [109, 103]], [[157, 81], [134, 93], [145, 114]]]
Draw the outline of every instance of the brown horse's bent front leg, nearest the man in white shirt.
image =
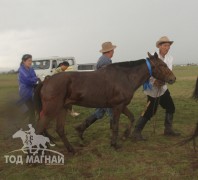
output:
[[135, 121], [134, 115], [132, 112], [129, 111], [129, 109], [127, 107], [125, 107], [122, 111], [122, 113], [128, 117], [128, 119], [130, 120], [130, 124], [129, 126], [126, 128], [126, 130], [124, 131], [124, 135], [123, 138], [128, 138], [131, 134], [132, 131], [132, 127], [133, 127], [133, 123]]

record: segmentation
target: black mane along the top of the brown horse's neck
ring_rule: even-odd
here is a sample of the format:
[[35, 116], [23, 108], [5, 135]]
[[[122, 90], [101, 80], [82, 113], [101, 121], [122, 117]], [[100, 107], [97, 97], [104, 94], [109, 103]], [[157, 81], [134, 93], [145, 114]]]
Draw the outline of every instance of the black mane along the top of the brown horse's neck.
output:
[[138, 65], [141, 65], [145, 63], [145, 59], [140, 59], [140, 60], [136, 60], [136, 61], [125, 61], [125, 62], [118, 62], [118, 63], [113, 63], [110, 64], [109, 66], [111, 67], [125, 67], [125, 68], [131, 68], [131, 67], [135, 67]]

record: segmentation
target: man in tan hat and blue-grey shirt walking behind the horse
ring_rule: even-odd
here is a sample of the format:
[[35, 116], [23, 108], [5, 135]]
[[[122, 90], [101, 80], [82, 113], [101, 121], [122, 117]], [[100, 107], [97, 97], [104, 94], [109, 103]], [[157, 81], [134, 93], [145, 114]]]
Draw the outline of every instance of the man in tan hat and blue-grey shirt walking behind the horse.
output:
[[[112, 45], [111, 42], [104, 42], [102, 44], [102, 49], [100, 50], [100, 52], [102, 53], [102, 56], [99, 58], [99, 60], [96, 64], [96, 69], [97, 70], [112, 63], [111, 58], [113, 57], [115, 48], [116, 48], [116, 46]], [[84, 133], [85, 129], [87, 129], [96, 120], [102, 119], [104, 117], [105, 113], [107, 113], [110, 116], [110, 124], [112, 125], [112, 120], [113, 120], [112, 109], [110, 109], [110, 108], [97, 108], [92, 115], [87, 117], [82, 124], [78, 125], [75, 128], [78, 131], [81, 139], [83, 139], [83, 133]]]

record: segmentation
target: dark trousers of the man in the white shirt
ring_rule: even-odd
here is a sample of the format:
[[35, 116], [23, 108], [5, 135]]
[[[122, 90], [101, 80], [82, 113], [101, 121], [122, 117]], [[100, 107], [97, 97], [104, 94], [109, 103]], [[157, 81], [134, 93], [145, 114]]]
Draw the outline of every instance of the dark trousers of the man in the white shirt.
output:
[[147, 102], [146, 110], [142, 113], [142, 116], [147, 120], [150, 120], [155, 115], [159, 105], [166, 110], [166, 113], [175, 113], [175, 105], [168, 89], [160, 97], [147, 96]]

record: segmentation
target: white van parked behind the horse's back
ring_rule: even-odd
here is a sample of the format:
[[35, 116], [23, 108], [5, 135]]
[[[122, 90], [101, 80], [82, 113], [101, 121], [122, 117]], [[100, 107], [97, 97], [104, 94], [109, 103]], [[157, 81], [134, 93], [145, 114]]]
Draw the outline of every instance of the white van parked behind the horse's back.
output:
[[32, 67], [35, 70], [37, 77], [42, 81], [45, 76], [52, 75], [57, 66], [63, 61], [69, 63], [67, 71], [77, 71], [77, 64], [74, 57], [47, 57], [33, 59]]

